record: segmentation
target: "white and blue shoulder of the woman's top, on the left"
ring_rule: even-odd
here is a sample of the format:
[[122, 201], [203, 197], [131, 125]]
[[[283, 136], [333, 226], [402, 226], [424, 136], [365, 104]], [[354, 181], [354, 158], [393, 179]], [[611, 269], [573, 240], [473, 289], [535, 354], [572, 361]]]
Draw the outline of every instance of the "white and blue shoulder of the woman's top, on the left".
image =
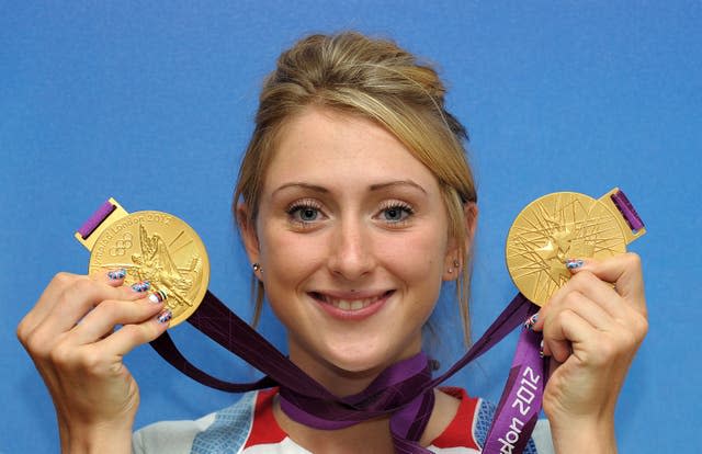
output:
[[237, 452], [248, 439], [257, 395], [247, 393], [230, 407], [194, 421], [161, 421], [134, 433], [134, 453]]

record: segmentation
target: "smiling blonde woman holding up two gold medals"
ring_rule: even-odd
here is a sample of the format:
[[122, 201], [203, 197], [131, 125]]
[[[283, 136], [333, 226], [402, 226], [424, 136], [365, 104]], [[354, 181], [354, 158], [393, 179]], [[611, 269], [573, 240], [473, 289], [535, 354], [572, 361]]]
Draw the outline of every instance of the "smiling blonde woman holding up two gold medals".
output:
[[[264, 292], [291, 360], [338, 396], [363, 390], [420, 351], [444, 282], [455, 282], [467, 336], [476, 193], [465, 129], [434, 70], [390, 42], [310, 36], [281, 55], [256, 122], [234, 207], [258, 280], [257, 317]], [[552, 355], [543, 406], [556, 452], [614, 452], [616, 397], [647, 327], [641, 265], [624, 254], [571, 269], [531, 322]], [[161, 334], [170, 314], [144, 296], [146, 285], [122, 284], [118, 272], [60, 273], [18, 328], [67, 452], [131, 450], [139, 398], [122, 356]], [[486, 405], [457, 389], [434, 397], [420, 444], [478, 452]], [[155, 424], [134, 447], [392, 452], [388, 424], [314, 429], [282, 411], [271, 389], [197, 421]]]

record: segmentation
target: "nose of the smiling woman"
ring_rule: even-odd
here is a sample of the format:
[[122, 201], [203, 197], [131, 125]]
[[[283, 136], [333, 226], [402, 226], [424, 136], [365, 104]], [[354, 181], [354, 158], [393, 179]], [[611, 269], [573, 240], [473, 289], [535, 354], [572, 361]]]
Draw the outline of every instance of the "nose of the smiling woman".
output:
[[358, 280], [375, 265], [372, 227], [362, 220], [344, 219], [331, 236], [329, 270], [347, 281]]

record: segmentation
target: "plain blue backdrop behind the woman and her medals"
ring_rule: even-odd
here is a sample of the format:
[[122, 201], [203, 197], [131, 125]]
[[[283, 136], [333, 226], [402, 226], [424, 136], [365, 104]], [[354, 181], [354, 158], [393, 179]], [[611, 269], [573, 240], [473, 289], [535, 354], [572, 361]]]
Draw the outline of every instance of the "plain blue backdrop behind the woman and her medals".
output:
[[[57, 451], [50, 399], [14, 330], [57, 271], [86, 271], [72, 232], [107, 196], [186, 219], [210, 250], [211, 288], [250, 316], [229, 203], [259, 87], [295, 39], [343, 29], [435, 61], [469, 128], [480, 208], [474, 332], [514, 293], [502, 251], [523, 205], [554, 191], [627, 192], [648, 227], [632, 250], [644, 259], [650, 331], [618, 407], [621, 452], [698, 451], [702, 5], [615, 3], [3, 2], [0, 452]], [[270, 315], [261, 329], [283, 345]], [[189, 327], [173, 334], [213, 373], [256, 375]], [[457, 339], [444, 338], [448, 359]], [[496, 400], [513, 341], [453, 383]], [[148, 347], [126, 362], [141, 389], [138, 427], [234, 399]]]

